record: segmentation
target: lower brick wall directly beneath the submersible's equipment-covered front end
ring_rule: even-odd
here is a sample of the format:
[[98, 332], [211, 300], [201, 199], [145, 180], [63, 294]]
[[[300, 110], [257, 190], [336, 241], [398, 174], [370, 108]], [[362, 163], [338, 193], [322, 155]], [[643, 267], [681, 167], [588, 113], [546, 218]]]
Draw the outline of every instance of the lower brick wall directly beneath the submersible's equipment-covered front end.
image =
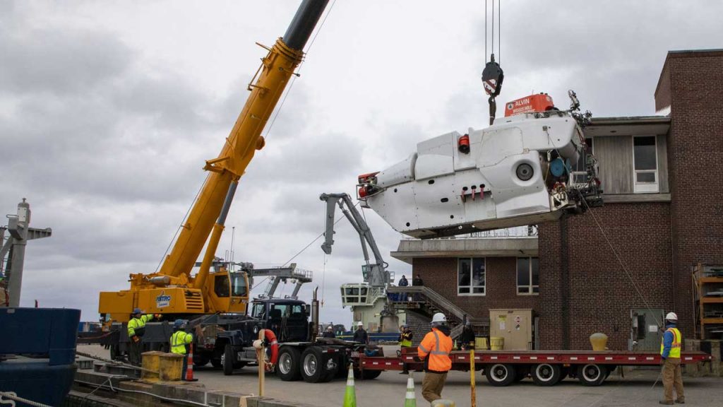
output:
[[[607, 204], [586, 214], [539, 225], [541, 348], [588, 349], [589, 336], [604, 332], [609, 348], [627, 350], [631, 309], [672, 309], [669, 219], [669, 204]], [[563, 225], [567, 227], [565, 241], [561, 237]], [[560, 247], [566, 250], [560, 251]], [[567, 277], [562, 271], [564, 256]]]

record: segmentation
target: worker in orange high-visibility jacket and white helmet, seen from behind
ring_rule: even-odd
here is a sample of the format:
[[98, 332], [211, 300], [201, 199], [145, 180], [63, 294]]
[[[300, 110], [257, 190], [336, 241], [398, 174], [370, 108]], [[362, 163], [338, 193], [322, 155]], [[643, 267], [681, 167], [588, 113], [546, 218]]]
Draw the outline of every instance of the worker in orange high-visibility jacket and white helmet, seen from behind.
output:
[[417, 352], [424, 360], [424, 379], [422, 380], [422, 396], [432, 403], [442, 398], [447, 372], [452, 369], [452, 338], [447, 325], [447, 317], [441, 312], [432, 316], [432, 330], [424, 335]]

